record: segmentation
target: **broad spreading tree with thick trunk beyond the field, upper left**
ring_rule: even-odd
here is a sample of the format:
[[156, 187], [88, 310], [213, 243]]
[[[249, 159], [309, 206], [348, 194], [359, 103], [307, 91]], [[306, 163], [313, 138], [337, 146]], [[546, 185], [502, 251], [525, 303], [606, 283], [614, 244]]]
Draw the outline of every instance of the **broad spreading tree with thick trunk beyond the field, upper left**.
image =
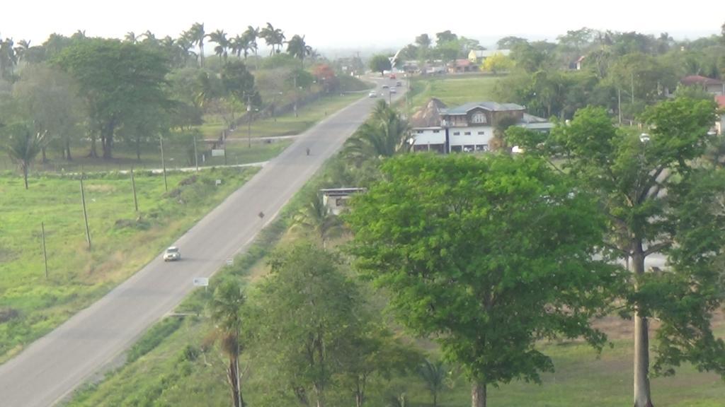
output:
[[[78, 82], [91, 133], [99, 135], [104, 159], [112, 158], [116, 129], [139, 108], [166, 106], [162, 91], [166, 62], [161, 51], [100, 39], [76, 43], [54, 59], [54, 64]], [[91, 156], [96, 156], [94, 148]]]

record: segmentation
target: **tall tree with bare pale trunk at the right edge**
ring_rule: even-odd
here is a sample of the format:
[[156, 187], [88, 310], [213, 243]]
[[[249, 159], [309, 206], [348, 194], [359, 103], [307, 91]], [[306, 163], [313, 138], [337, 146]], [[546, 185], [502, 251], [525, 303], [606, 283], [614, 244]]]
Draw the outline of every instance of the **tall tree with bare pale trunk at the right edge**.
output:
[[[725, 173], [702, 167], [713, 146], [712, 101], [676, 98], [653, 106], [637, 134], [612, 125], [604, 109], [577, 112], [550, 136], [508, 131], [510, 143], [551, 159], [580, 188], [599, 196], [608, 219], [605, 239], [626, 261], [634, 314], [634, 406], [651, 407], [649, 320], [658, 319], [655, 372], [684, 361], [725, 374], [725, 344], [711, 330], [722, 300]], [[556, 157], [556, 159], [553, 159]], [[645, 259], [663, 253], [666, 269], [647, 272]], [[627, 294], [629, 293], [629, 294]]]

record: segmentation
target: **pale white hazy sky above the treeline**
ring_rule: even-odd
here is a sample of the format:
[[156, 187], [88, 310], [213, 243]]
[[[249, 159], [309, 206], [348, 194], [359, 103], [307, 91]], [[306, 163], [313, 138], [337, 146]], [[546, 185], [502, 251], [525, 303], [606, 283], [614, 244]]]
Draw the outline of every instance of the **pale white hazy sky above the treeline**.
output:
[[159, 1], [8, 0], [0, 9], [0, 35], [42, 43], [49, 34], [123, 37], [151, 30], [176, 37], [194, 22], [207, 33], [241, 33], [271, 22], [291, 38], [306, 35], [313, 48], [370, 49], [402, 46], [415, 35], [452, 30], [494, 43], [506, 35], [554, 40], [581, 27], [642, 33], [668, 32], [677, 39], [719, 33], [722, 0], [692, 3], [608, 1]]

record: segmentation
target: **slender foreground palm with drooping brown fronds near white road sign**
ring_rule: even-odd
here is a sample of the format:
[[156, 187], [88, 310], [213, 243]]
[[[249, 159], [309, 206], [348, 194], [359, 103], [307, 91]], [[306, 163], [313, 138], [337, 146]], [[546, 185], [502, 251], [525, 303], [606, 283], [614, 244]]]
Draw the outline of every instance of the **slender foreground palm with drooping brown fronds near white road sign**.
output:
[[244, 292], [236, 281], [222, 283], [216, 290], [210, 303], [212, 320], [221, 335], [221, 348], [229, 358], [226, 368], [227, 381], [231, 390], [232, 405], [244, 407], [241, 396], [241, 377], [239, 377], [239, 334], [241, 332], [241, 306], [244, 305]]

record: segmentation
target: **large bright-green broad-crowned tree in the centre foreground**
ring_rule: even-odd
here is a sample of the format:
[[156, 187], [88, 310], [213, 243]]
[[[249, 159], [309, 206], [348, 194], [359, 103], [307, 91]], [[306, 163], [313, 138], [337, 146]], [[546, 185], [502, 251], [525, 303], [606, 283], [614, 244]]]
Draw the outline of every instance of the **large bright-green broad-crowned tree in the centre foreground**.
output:
[[526, 157], [407, 154], [382, 168], [345, 217], [355, 264], [389, 289], [399, 322], [463, 366], [472, 406], [552, 371], [541, 338], [604, 343], [589, 322], [619, 274], [592, 260], [604, 219], [590, 196]]

